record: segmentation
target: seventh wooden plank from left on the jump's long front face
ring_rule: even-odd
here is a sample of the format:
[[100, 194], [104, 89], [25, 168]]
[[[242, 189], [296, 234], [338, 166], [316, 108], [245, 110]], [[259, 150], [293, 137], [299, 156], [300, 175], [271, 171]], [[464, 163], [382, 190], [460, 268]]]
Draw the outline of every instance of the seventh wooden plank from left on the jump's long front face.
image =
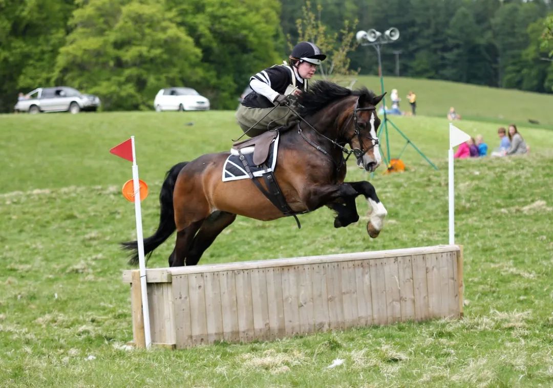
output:
[[267, 281], [267, 300], [269, 313], [269, 338], [283, 338], [286, 334], [284, 322], [284, 297], [282, 293], [282, 269], [268, 268], [265, 271]]

